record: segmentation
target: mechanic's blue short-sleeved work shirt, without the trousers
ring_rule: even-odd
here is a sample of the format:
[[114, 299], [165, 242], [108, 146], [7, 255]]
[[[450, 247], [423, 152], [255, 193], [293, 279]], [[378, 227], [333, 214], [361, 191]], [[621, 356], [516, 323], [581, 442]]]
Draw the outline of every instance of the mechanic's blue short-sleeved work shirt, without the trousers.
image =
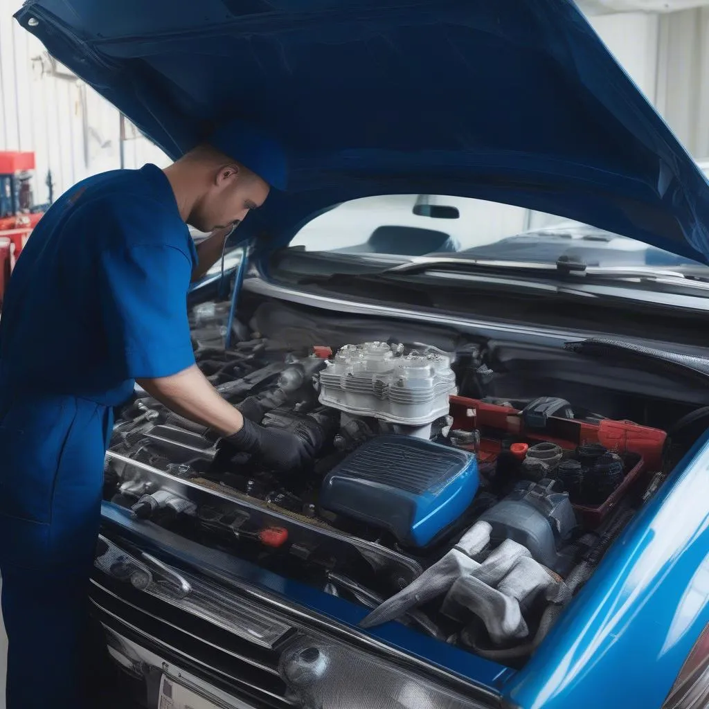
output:
[[0, 318], [0, 387], [116, 406], [135, 379], [190, 367], [195, 264], [155, 165], [80, 182], [43, 216], [13, 271]]

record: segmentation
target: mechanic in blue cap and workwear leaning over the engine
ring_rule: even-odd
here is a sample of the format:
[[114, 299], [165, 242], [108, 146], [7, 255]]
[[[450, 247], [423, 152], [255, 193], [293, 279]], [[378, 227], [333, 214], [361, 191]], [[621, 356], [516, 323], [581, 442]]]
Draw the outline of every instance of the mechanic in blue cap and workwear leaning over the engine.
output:
[[[69, 189], [18, 258], [0, 321], [0, 707], [3, 696], [9, 709], [86, 702], [104, 455], [113, 407], [136, 381], [223, 449], [276, 470], [310, 457], [299, 437], [263, 428], [213, 389], [186, 309], [190, 281], [285, 179], [279, 145], [233, 121], [164, 170]], [[213, 234], [195, 247], [188, 224]]]

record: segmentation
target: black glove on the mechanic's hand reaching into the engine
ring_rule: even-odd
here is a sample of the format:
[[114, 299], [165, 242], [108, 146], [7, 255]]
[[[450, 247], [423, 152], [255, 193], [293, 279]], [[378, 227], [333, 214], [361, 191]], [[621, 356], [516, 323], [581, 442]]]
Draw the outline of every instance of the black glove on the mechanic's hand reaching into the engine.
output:
[[265, 428], [244, 417], [242, 429], [222, 439], [235, 450], [258, 456], [274, 470], [303, 467], [313, 459], [313, 448], [300, 436], [279, 428]]

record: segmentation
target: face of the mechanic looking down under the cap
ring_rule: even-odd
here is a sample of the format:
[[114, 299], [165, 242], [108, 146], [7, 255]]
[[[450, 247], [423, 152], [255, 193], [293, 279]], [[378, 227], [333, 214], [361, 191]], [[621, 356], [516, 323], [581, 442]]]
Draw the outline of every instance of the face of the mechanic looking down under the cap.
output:
[[269, 186], [257, 174], [236, 164], [225, 165], [215, 174], [210, 188], [196, 203], [189, 223], [202, 232], [228, 228], [258, 209]]

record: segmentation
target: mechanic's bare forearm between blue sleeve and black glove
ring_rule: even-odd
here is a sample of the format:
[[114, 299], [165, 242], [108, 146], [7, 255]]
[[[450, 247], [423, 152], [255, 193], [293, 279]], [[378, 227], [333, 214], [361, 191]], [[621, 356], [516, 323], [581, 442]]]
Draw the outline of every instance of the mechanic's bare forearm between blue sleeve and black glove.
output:
[[240, 411], [219, 396], [196, 364], [172, 376], [136, 381], [174, 413], [222, 435], [232, 435], [244, 425]]

